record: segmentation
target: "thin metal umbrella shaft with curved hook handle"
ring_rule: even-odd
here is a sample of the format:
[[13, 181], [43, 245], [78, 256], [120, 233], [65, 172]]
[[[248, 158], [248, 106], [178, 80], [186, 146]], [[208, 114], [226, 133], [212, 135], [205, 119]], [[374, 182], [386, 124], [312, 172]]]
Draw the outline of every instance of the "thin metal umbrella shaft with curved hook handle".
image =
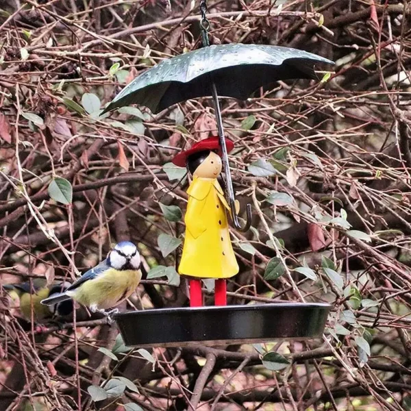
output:
[[241, 227], [240, 221], [238, 221], [238, 214], [236, 212], [236, 199], [234, 197], [234, 189], [233, 189], [233, 182], [231, 178], [231, 173], [229, 172], [229, 164], [228, 164], [228, 154], [227, 154], [227, 147], [225, 145], [225, 136], [224, 136], [224, 129], [223, 129], [223, 119], [221, 118], [221, 110], [219, 104], [219, 97], [217, 95], [216, 85], [210, 77], [211, 87], [212, 87], [212, 99], [214, 101], [214, 109], [216, 111], [216, 119], [217, 119], [217, 129], [219, 130], [219, 139], [220, 139], [220, 146], [221, 151], [223, 152], [222, 160], [224, 166], [224, 173], [225, 173], [225, 185], [227, 186], [227, 203], [229, 208], [232, 211], [232, 221], [234, 227], [238, 229], [240, 232], [247, 232], [251, 227], [251, 204], [247, 204], [246, 211], [247, 211], [247, 220], [244, 227]]

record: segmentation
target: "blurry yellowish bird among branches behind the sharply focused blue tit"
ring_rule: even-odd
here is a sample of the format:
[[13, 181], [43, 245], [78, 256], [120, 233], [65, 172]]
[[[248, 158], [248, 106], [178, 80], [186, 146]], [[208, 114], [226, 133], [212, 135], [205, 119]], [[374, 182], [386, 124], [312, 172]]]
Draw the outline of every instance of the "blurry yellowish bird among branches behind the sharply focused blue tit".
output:
[[10, 295], [16, 295], [20, 301], [20, 312], [23, 318], [27, 321], [32, 320], [32, 308], [34, 314], [34, 321], [36, 323], [46, 323], [55, 317], [67, 317], [73, 313], [73, 301], [62, 301], [51, 306], [42, 306], [40, 301], [47, 297], [60, 294], [66, 289], [68, 283], [54, 284], [52, 286], [39, 286], [38, 283], [30, 284], [28, 282], [23, 284], [5, 284], [3, 288], [9, 292]]

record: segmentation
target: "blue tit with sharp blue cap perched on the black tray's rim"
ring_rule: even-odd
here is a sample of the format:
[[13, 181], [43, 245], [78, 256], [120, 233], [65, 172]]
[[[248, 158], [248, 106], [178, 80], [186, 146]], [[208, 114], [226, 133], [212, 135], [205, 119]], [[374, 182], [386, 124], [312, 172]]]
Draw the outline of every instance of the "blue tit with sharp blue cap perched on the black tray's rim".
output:
[[129, 241], [119, 242], [94, 269], [84, 273], [64, 292], [43, 299], [41, 303], [51, 306], [73, 299], [90, 308], [91, 312], [110, 316], [119, 310], [105, 310], [125, 301], [140, 283], [140, 262], [136, 245]]

